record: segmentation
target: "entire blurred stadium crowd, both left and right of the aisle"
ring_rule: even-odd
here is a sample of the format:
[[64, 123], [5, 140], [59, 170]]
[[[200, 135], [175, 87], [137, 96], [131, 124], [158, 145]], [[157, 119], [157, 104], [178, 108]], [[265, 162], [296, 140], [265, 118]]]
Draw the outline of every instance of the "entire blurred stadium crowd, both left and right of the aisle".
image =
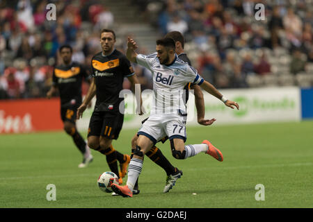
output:
[[[294, 85], [300, 83], [294, 78], [298, 74], [313, 76], [311, 0], [129, 1], [146, 12], [160, 35], [183, 33], [193, 66], [218, 88], [259, 86], [262, 76], [291, 76]], [[49, 3], [56, 5], [56, 20], [46, 18]], [[255, 17], [257, 3], [265, 6], [264, 20]], [[70, 44], [73, 60], [90, 68], [92, 56], [100, 50], [99, 30], [113, 25], [113, 13], [101, 1], [0, 4], [0, 99], [44, 97], [62, 44]], [[125, 42], [117, 46], [123, 51]], [[135, 69], [143, 89], [151, 88], [147, 70]]]

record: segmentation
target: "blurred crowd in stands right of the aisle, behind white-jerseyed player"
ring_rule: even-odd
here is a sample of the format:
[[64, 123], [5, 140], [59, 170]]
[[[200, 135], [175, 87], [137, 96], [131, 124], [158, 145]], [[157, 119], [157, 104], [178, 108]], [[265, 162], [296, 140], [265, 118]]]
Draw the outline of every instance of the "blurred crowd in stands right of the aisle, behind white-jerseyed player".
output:
[[249, 87], [262, 76], [301, 85], [294, 77], [303, 73], [312, 86], [313, 1], [168, 0], [150, 8], [158, 9], [152, 23], [161, 33], [184, 33], [193, 65], [219, 88]]

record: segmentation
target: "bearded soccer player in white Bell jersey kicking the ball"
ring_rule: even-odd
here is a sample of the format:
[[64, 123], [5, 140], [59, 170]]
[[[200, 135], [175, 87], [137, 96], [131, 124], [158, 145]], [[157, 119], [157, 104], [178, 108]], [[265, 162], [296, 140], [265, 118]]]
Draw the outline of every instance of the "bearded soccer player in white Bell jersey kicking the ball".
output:
[[150, 148], [164, 136], [170, 139], [173, 157], [184, 160], [198, 153], [216, 155], [216, 159], [223, 161], [223, 155], [209, 141], [202, 144], [186, 145], [186, 126], [184, 115], [186, 106], [182, 96], [182, 89], [186, 83], [195, 83], [202, 89], [220, 99], [228, 107], [239, 110], [238, 103], [225, 98], [218, 90], [204, 80], [188, 63], [177, 58], [175, 42], [171, 38], [157, 40], [157, 53], [144, 56], [136, 53], [138, 46], [131, 38], [127, 43], [127, 58], [152, 71], [154, 103], [149, 119], [143, 123], [138, 131], [137, 146], [134, 157], [128, 168], [127, 185], [111, 185], [115, 193], [124, 197], [132, 197], [132, 190], [143, 167], [143, 156]]

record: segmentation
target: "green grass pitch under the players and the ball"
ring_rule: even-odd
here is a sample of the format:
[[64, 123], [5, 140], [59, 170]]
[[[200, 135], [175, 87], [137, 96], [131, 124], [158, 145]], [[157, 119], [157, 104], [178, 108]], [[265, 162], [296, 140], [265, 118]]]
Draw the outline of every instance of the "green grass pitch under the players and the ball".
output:
[[[135, 132], [122, 130], [115, 149], [130, 153]], [[63, 132], [0, 135], [0, 207], [313, 207], [313, 121], [188, 127], [187, 134], [186, 144], [209, 139], [224, 161], [202, 153], [175, 160], [168, 142], [157, 144], [184, 176], [163, 194], [166, 174], [145, 157], [134, 198], [100, 191], [106, 157], [93, 151], [94, 162], [78, 169], [81, 154]], [[48, 184], [56, 185], [56, 201], [46, 199]], [[258, 184], [265, 200], [255, 200]]]

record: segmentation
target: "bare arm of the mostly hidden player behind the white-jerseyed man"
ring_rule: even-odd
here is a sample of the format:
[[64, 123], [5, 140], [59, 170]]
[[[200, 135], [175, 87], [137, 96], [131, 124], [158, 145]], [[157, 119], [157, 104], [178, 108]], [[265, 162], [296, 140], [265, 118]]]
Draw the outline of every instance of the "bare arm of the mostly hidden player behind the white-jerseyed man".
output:
[[204, 119], [204, 99], [200, 86], [192, 85], [191, 89], [194, 90], [195, 94], [195, 108], [197, 108], [198, 123], [203, 126], [211, 125], [214, 121], [216, 121], [216, 119]]

